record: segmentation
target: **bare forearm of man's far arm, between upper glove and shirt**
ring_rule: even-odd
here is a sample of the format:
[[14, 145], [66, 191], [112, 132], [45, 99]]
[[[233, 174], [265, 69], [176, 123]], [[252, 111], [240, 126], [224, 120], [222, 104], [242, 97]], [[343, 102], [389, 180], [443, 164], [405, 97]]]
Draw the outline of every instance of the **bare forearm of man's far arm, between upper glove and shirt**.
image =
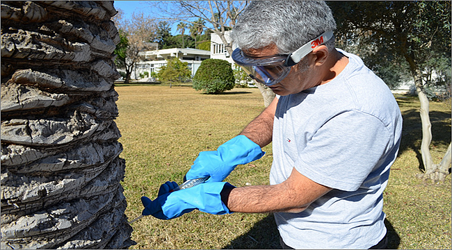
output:
[[273, 119], [275, 117], [276, 106], [277, 98], [258, 117], [252, 120], [240, 134], [245, 135], [260, 147], [268, 145], [273, 136]]

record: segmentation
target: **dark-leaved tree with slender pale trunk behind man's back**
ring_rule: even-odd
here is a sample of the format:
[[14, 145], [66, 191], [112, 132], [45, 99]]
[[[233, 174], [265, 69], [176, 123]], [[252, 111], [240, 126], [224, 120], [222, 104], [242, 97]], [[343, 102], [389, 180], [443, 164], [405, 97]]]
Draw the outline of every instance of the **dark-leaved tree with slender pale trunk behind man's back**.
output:
[[[451, 1], [330, 1], [329, 5], [338, 24], [339, 40], [366, 44], [368, 53], [384, 55], [380, 56], [383, 63], [405, 61], [400, 66], [406, 65], [421, 102], [422, 176], [444, 180], [451, 167], [451, 144], [441, 163], [434, 164], [426, 92], [434, 82], [426, 81], [424, 73], [435, 66], [431, 62], [438, 60], [449, 62], [450, 72]], [[435, 72], [442, 74], [442, 70]]]

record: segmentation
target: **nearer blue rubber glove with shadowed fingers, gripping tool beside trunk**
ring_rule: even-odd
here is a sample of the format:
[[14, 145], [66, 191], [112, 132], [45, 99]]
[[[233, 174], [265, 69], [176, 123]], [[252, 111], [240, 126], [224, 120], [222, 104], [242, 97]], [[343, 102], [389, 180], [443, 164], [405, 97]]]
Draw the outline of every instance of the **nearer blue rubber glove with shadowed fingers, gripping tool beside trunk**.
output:
[[177, 183], [167, 181], [161, 185], [159, 197], [154, 201], [141, 197], [141, 202], [145, 206], [142, 215], [152, 215], [158, 219], [174, 219], [195, 209], [213, 215], [231, 213], [221, 201], [220, 192], [225, 186], [234, 187], [225, 182], [202, 183], [192, 188], [170, 192], [177, 187]]

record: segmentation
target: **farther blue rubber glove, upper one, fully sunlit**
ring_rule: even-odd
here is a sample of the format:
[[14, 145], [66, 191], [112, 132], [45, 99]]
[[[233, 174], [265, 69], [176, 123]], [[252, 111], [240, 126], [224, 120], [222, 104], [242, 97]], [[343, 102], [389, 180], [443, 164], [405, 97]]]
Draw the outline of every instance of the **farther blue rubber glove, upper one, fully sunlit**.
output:
[[210, 176], [207, 183], [223, 181], [237, 165], [251, 163], [264, 154], [258, 144], [245, 135], [238, 135], [222, 144], [216, 151], [202, 151], [185, 178], [190, 180]]

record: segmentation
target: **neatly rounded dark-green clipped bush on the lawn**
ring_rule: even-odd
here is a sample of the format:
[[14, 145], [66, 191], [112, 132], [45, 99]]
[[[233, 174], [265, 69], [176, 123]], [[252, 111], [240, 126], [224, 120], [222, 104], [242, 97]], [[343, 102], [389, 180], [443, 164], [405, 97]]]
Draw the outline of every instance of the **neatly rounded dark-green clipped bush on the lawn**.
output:
[[193, 77], [193, 88], [207, 94], [218, 94], [234, 88], [234, 73], [227, 60], [206, 59]]

